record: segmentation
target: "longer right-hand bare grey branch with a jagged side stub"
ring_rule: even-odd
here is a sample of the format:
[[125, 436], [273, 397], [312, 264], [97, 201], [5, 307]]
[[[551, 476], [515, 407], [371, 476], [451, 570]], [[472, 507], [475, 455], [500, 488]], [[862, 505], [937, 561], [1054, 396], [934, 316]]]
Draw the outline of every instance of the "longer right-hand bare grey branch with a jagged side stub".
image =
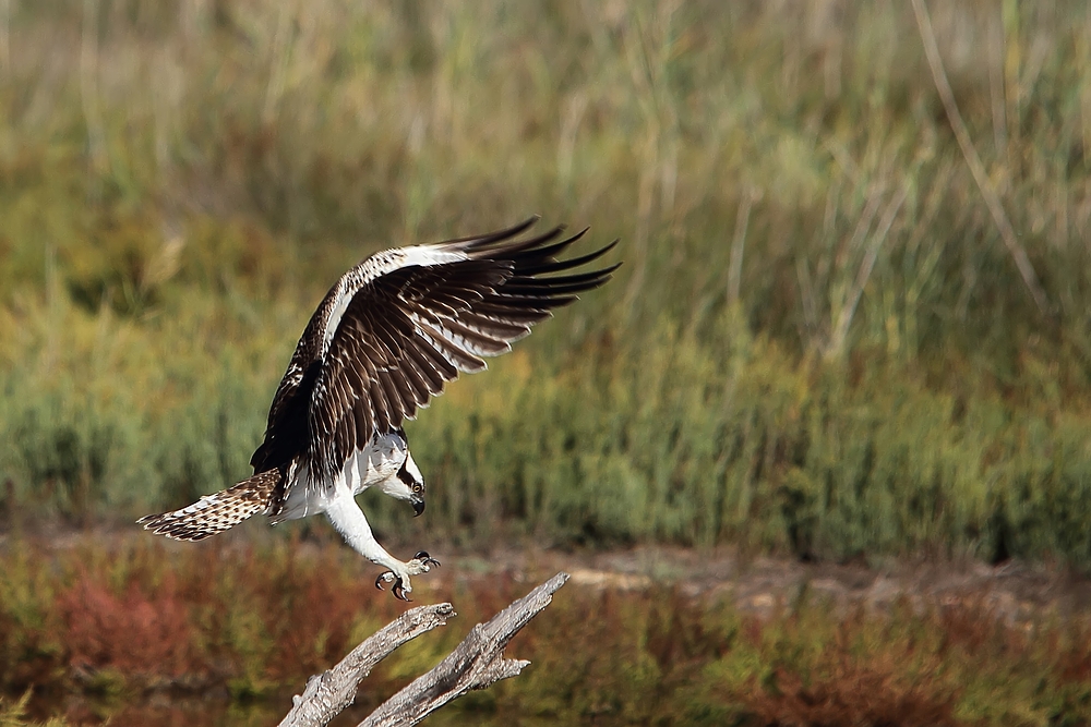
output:
[[530, 662], [505, 659], [504, 647], [553, 601], [553, 594], [567, 580], [567, 573], [558, 573], [496, 614], [488, 623], [475, 626], [434, 669], [384, 702], [360, 723], [360, 727], [416, 725], [472, 689], [484, 689], [501, 679], [518, 675]]

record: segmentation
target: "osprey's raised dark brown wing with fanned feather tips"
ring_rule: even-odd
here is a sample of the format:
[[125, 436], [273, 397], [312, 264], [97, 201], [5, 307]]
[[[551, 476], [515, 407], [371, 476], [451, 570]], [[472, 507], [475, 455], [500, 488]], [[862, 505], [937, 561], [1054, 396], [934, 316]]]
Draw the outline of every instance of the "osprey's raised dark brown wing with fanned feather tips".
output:
[[[338, 281], [315, 314], [322, 324], [312, 319], [322, 329], [313, 336], [314, 363], [299, 373], [301, 386], [311, 388], [305, 419], [312, 474], [328, 482], [376, 432], [412, 419], [459, 372], [484, 369], [483, 356], [509, 351], [552, 308], [602, 284], [618, 268], [573, 272], [616, 241], [559, 260], [586, 230], [561, 239], [558, 228], [519, 240], [535, 221], [379, 253]], [[271, 412], [271, 425], [272, 419]]]

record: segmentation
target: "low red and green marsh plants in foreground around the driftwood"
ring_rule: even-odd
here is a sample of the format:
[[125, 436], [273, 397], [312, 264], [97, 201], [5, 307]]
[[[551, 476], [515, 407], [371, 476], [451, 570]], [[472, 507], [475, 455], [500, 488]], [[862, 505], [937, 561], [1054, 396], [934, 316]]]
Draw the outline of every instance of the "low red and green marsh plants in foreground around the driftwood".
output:
[[[87, 538], [53, 553], [23, 544], [5, 559], [0, 690], [34, 684], [48, 713], [79, 694], [111, 724], [166, 722], [137, 716], [161, 708], [154, 694], [179, 704], [201, 694], [206, 713], [232, 710], [229, 724], [272, 724], [310, 675], [403, 609], [375, 597], [359, 559], [333, 540], [253, 550], [137, 538], [106, 553]], [[529, 587], [504, 574], [415, 585], [424, 602], [455, 603], [458, 618], [383, 662], [358, 698], [361, 715]], [[512, 715], [566, 725], [1087, 724], [1091, 621], [1011, 623], [985, 595], [931, 610], [837, 611], [804, 592], [759, 619], [667, 586], [570, 584], [511, 646], [532, 667], [443, 713], [496, 725]]]

